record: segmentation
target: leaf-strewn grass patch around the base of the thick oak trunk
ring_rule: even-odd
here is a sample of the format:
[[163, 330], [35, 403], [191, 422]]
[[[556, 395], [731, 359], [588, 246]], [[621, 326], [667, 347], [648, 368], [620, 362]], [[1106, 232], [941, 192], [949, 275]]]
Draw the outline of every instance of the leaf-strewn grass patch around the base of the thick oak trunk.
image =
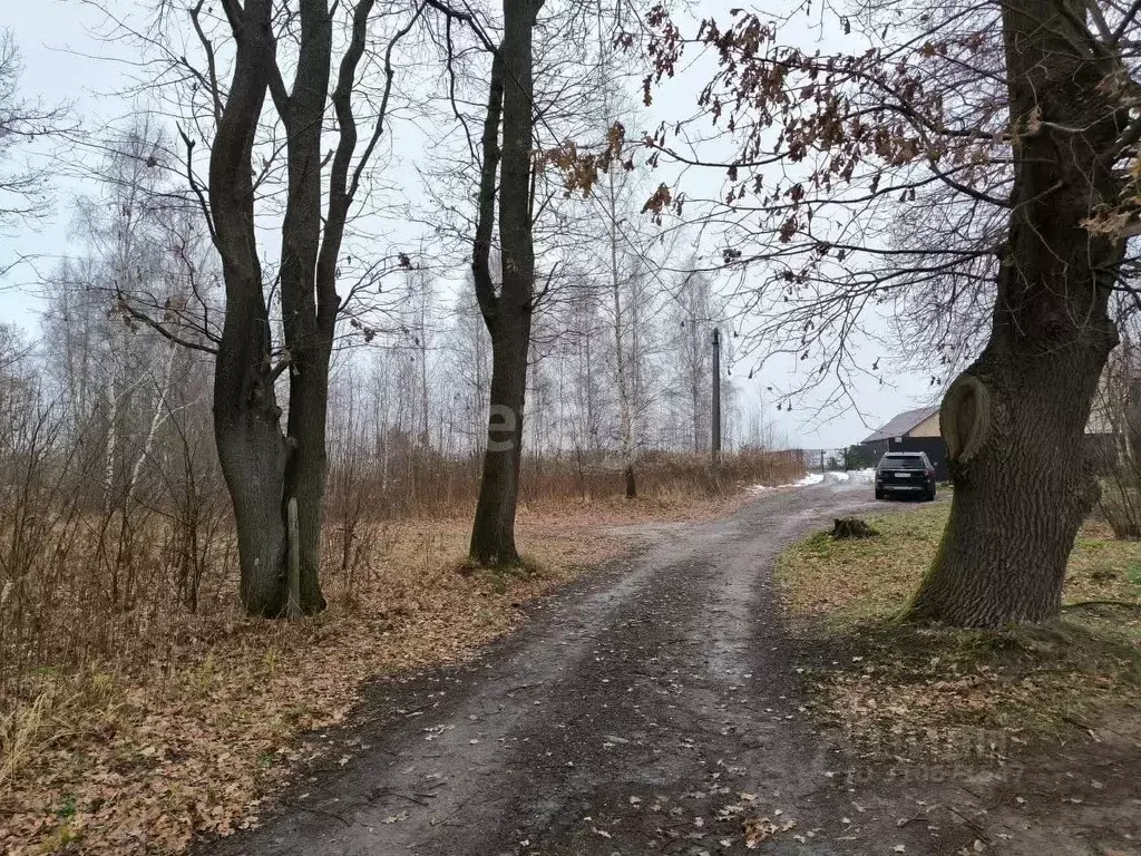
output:
[[[934, 557], [948, 510], [944, 501], [872, 518], [877, 538], [819, 533], [782, 557], [793, 624], [818, 653], [804, 671], [815, 713], [874, 754], [915, 759], [979, 734], [1008, 744], [1091, 729], [1107, 711], [1135, 705], [1139, 609], [1070, 608], [1047, 625], [1000, 631], [893, 621]], [[1086, 524], [1065, 599], [1141, 607], [1141, 543]]]

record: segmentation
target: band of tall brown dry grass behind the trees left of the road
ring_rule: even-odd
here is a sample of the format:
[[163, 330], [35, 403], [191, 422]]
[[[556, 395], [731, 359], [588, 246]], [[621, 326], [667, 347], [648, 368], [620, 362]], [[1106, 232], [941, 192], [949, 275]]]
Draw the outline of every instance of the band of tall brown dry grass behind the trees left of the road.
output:
[[[32, 483], [0, 485], [0, 710], [34, 698], [43, 669], [75, 675], [110, 659], [115, 672], [143, 673], [177, 657], [197, 628], [234, 617], [237, 555], [219, 474], [196, 475], [193, 490], [175, 492], [177, 502], [157, 495], [104, 506], [71, 485], [72, 476], [84, 483], [86, 469], [68, 476], [47, 453], [38, 460]], [[334, 596], [355, 598], [357, 580], [386, 560], [386, 543], [400, 542], [404, 530], [439, 519], [466, 528], [478, 483], [469, 463], [424, 453], [393, 462], [381, 478], [371, 459], [334, 460], [323, 568], [323, 579], [340, 587]], [[621, 473], [583, 470], [581, 482], [572, 463], [528, 462], [524, 517], [628, 514]], [[689, 514], [743, 485], [779, 484], [802, 471], [796, 453], [751, 452], [727, 455], [714, 482], [704, 455], [650, 453], [630, 514]], [[410, 473], [422, 481], [416, 490]]]

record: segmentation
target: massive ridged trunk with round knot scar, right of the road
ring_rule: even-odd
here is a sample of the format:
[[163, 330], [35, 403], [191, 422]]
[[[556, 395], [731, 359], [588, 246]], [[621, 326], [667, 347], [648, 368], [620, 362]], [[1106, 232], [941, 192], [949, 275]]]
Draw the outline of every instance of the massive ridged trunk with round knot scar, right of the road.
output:
[[[955, 485], [939, 554], [911, 614], [964, 627], [1058, 613], [1066, 563], [1098, 485], [1085, 426], [1117, 336], [1108, 317], [1124, 242], [1082, 221], [1117, 201], [1118, 134], [1075, 3], [1003, 7], [1014, 144], [1011, 224], [990, 341], [941, 410]], [[1073, 129], [1082, 129], [1074, 131]]]

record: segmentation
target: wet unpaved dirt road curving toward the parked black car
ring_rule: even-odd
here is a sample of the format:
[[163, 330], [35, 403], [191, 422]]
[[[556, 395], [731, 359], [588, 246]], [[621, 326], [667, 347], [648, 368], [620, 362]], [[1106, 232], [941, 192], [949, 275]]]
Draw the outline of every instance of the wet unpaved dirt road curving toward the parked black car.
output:
[[898, 824], [914, 802], [826, 775], [842, 761], [798, 709], [772, 562], [831, 517], [873, 507], [869, 493], [778, 491], [665, 530], [480, 660], [379, 681], [356, 756], [207, 853], [748, 853], [750, 817], [795, 823], [763, 853], [954, 853], [944, 848], [961, 839], [936, 847], [925, 825]]

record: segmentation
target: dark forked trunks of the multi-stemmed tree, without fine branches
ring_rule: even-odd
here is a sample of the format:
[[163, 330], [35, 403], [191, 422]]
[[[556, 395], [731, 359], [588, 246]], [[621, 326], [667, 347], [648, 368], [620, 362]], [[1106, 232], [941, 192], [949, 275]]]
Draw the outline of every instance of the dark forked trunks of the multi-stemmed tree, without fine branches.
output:
[[[284, 89], [275, 57], [274, 3], [246, 0], [242, 6], [222, 6], [234, 33], [235, 57], [210, 152], [210, 211], [226, 282], [226, 317], [215, 375], [215, 436], [234, 500], [242, 603], [253, 615], [285, 615], [288, 567], [292, 564], [299, 587], [294, 611], [313, 614], [325, 607], [318, 571], [327, 470], [329, 363], [340, 309], [338, 256], [362, 170], [383, 129], [391, 75], [372, 137], [357, 156], [351, 96], [374, 0], [355, 0], [351, 7], [353, 27], [331, 95], [335, 5], [330, 7], [325, 0], [298, 3], [300, 41], [291, 92]], [[394, 42], [410, 32], [418, 16], [396, 33]], [[286, 356], [277, 366], [270, 362], [270, 320], [254, 232], [251, 163], [267, 92], [286, 129], [288, 193], [281, 253]], [[338, 132], [326, 181], [323, 169], [329, 159], [322, 148], [322, 132], [330, 102]], [[290, 383], [285, 435], [274, 390], [274, 380], [283, 370], [289, 371]], [[297, 531], [290, 533], [286, 522], [294, 500]], [[297, 555], [291, 556], [290, 544]]]

